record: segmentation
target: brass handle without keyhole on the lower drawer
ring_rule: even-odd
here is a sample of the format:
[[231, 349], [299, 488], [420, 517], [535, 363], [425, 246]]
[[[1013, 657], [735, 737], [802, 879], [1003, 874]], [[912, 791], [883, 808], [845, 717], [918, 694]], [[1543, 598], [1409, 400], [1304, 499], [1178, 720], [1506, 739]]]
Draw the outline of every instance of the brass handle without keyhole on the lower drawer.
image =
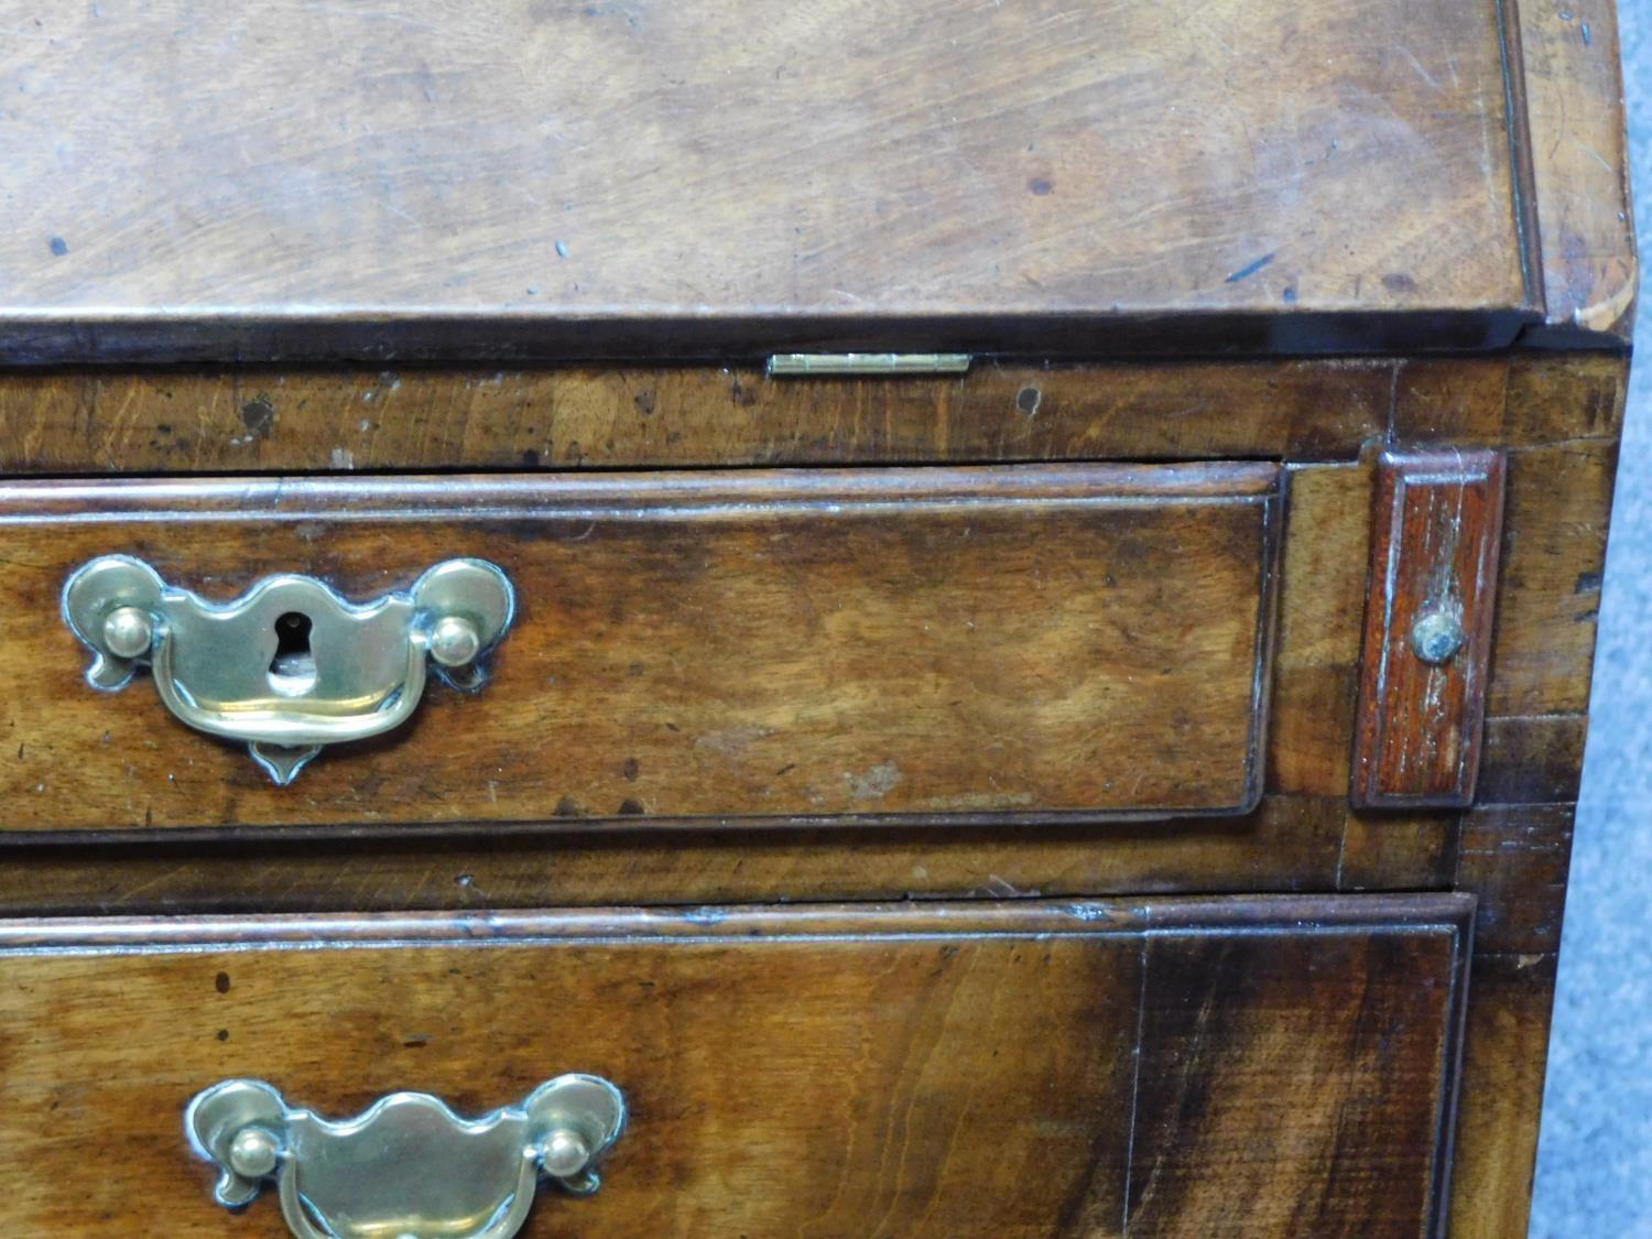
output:
[[330, 1122], [263, 1080], [223, 1080], [195, 1095], [183, 1130], [220, 1170], [220, 1204], [248, 1204], [276, 1180], [299, 1239], [509, 1239], [542, 1175], [577, 1196], [601, 1186], [596, 1163], [624, 1118], [624, 1097], [598, 1075], [558, 1075], [476, 1120], [398, 1092]]

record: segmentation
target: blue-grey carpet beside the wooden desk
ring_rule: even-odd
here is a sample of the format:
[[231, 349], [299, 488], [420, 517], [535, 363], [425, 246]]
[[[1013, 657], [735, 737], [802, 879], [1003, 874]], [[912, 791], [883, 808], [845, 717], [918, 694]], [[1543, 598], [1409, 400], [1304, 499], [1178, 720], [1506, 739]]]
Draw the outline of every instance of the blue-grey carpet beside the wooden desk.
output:
[[[1619, 0], [1635, 223], [1652, 240], [1652, 0]], [[1642, 263], [1642, 266], [1645, 266]], [[1652, 1236], [1652, 307], [1617, 471], [1531, 1236]]]

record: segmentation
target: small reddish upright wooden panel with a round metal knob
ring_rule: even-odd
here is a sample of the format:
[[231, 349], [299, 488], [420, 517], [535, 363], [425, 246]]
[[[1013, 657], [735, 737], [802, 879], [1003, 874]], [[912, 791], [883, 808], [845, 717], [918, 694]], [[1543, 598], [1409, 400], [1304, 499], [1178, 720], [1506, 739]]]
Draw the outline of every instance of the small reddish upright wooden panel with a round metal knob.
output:
[[1474, 800], [1502, 515], [1498, 453], [1383, 454], [1355, 733], [1360, 806]]

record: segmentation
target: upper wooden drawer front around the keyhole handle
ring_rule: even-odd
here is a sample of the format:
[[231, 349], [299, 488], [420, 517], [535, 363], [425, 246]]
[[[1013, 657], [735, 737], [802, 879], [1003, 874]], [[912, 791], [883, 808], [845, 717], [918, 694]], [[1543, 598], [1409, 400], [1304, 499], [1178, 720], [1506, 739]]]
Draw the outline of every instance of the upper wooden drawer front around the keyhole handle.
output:
[[[1241, 813], [1282, 484], [1265, 463], [10, 484], [5, 826]], [[276, 786], [142, 667], [84, 682], [59, 595], [106, 555], [211, 605], [282, 573], [370, 603], [481, 558], [515, 615], [482, 687], [433, 677], [400, 727]], [[203, 624], [159, 624], [157, 667]], [[320, 631], [324, 679], [370, 662]], [[282, 639], [223, 661], [274, 684]]]

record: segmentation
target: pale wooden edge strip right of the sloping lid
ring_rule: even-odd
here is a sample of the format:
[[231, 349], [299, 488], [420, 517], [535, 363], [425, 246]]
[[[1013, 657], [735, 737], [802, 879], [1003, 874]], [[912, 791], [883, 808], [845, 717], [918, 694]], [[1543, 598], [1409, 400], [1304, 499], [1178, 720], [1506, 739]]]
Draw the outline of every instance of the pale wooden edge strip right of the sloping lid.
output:
[[1543, 251], [1546, 324], [1530, 339], [1627, 344], [1639, 264], [1617, 8], [1612, 0], [1515, 0], [1513, 13]]

